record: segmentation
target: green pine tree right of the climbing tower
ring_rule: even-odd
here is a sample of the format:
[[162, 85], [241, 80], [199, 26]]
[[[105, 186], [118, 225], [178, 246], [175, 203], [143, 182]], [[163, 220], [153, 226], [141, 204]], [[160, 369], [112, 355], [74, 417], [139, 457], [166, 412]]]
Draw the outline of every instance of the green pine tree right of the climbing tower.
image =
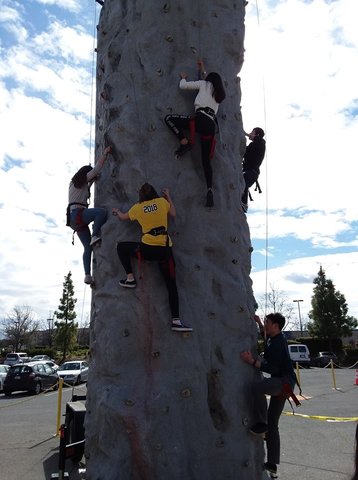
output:
[[348, 315], [344, 295], [326, 278], [322, 266], [313, 283], [312, 310], [308, 314], [312, 321], [308, 323], [308, 331], [312, 337], [327, 339], [332, 350], [332, 340], [351, 335], [357, 320]]

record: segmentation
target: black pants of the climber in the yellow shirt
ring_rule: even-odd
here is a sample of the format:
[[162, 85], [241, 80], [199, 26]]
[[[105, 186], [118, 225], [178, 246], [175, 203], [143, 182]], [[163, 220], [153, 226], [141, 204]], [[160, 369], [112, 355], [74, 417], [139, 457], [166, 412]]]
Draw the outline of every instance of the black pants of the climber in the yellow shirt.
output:
[[119, 242], [117, 244], [117, 253], [127, 275], [133, 273], [131, 257], [135, 257], [137, 252], [140, 252], [144, 260], [152, 260], [158, 263], [159, 271], [168, 290], [172, 318], [179, 318], [175, 262], [171, 247], [159, 247], [139, 242]]

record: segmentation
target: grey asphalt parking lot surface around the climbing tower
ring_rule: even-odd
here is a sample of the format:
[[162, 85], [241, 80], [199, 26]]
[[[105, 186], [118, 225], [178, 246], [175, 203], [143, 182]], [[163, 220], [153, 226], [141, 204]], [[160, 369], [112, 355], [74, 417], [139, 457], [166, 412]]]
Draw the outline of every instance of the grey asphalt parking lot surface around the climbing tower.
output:
[[[280, 478], [350, 480], [356, 422], [334, 421], [334, 418], [358, 417], [355, 374], [354, 369], [335, 370], [337, 389], [333, 389], [329, 369], [300, 370], [303, 394], [307, 399], [302, 400], [301, 407], [295, 408], [294, 416], [286, 403], [287, 414], [280, 422]], [[76, 387], [76, 391], [83, 394], [85, 386]], [[71, 388], [63, 390], [62, 412], [71, 393]], [[51, 478], [51, 473], [58, 471], [59, 438], [54, 436], [56, 409], [56, 392], [40, 396], [21, 393], [11, 397], [0, 395], [1, 478], [47, 480]], [[330, 417], [330, 420], [300, 415]], [[67, 461], [66, 470], [70, 479], [81, 478], [71, 461]]]

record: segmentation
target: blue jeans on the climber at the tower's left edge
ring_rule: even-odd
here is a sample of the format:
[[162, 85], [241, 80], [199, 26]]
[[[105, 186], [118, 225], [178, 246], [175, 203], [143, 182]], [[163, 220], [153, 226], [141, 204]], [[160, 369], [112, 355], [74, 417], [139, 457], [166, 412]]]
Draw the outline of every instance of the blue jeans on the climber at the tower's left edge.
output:
[[76, 208], [71, 212], [71, 228], [77, 232], [78, 238], [83, 245], [83, 268], [85, 275], [90, 275], [92, 247], [90, 245], [91, 232], [88, 225], [93, 222], [92, 235], [99, 237], [101, 235], [101, 227], [107, 220], [107, 210], [104, 208], [84, 208], [81, 215], [82, 224], [80, 225], [77, 222], [79, 210]]

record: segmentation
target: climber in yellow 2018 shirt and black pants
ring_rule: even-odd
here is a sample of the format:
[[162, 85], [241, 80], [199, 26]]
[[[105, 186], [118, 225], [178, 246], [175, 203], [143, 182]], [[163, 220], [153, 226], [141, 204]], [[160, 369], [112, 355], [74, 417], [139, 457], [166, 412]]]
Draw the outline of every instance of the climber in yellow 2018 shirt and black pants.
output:
[[[163, 198], [164, 197], [164, 198]], [[126, 279], [119, 284], [125, 288], [135, 288], [131, 257], [139, 252], [144, 260], [158, 262], [168, 289], [169, 306], [172, 314], [172, 330], [176, 332], [191, 332], [192, 328], [183, 325], [179, 318], [179, 299], [175, 279], [175, 263], [172, 253], [172, 241], [168, 235], [168, 215], [175, 217], [176, 210], [169, 195], [169, 190], [163, 191], [159, 197], [154, 187], [149, 183], [139, 190], [139, 203], [133, 205], [127, 213], [113, 208], [112, 213], [120, 220], [137, 221], [142, 227], [141, 242], [119, 242], [117, 253], [127, 274]]]

